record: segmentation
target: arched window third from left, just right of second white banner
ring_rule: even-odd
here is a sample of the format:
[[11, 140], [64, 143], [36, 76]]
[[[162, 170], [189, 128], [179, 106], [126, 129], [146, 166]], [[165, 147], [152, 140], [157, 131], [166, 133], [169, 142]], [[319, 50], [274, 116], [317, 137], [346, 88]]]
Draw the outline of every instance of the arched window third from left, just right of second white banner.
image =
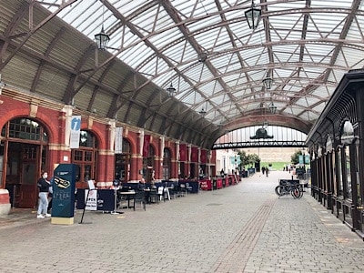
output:
[[115, 155], [115, 179], [126, 182], [130, 180], [131, 170], [131, 145], [126, 138], [123, 138], [122, 151]]

